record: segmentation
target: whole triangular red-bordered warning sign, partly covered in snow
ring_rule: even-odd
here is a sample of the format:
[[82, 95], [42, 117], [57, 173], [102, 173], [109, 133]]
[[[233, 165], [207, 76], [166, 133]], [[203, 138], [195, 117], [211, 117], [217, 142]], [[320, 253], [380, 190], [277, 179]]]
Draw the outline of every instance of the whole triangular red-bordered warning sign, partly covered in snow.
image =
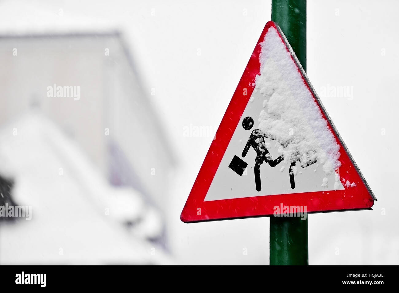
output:
[[282, 31], [268, 22], [181, 220], [270, 216], [282, 205], [367, 209], [374, 200]]

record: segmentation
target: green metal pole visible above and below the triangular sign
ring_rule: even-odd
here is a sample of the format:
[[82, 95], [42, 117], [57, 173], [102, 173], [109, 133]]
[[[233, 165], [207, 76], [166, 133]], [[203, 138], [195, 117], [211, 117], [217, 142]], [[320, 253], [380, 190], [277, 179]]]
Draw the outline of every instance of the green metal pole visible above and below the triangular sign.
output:
[[[306, 0], [272, 0], [272, 20], [306, 71]], [[308, 265], [308, 219], [270, 217], [270, 265]]]

